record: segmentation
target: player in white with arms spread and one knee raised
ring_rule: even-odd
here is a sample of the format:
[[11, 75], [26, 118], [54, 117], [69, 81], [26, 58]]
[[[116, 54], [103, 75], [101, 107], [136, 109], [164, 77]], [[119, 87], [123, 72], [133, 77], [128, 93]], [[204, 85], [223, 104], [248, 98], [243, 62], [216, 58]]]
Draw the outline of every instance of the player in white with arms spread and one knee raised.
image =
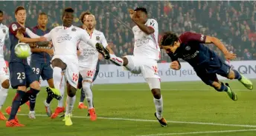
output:
[[[96, 47], [98, 52], [102, 53], [105, 58], [109, 58], [109, 54], [104, 52], [103, 46], [89, 39], [88, 33], [85, 30], [74, 27], [74, 10], [71, 7], [65, 8], [63, 12], [63, 25], [55, 27], [50, 33], [44, 35], [48, 41], [53, 41], [54, 57], [51, 64], [54, 68], [53, 78], [54, 87], [60, 90], [60, 82], [62, 72], [65, 70], [65, 78], [67, 80], [67, 107], [65, 111], [65, 125], [71, 126], [71, 112], [74, 107], [75, 94], [77, 91], [77, 81], [79, 75], [78, 58], [77, 58], [77, 43], [84, 41], [92, 47]], [[32, 38], [38, 38], [31, 30], [26, 29], [26, 33]]]

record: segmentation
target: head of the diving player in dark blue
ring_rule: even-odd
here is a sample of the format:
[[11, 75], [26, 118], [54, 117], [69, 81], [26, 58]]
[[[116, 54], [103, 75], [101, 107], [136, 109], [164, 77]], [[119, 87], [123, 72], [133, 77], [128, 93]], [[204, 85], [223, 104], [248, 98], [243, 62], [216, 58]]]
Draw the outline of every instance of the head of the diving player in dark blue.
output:
[[166, 52], [175, 52], [179, 46], [179, 37], [175, 33], [164, 33], [160, 40], [160, 47]]

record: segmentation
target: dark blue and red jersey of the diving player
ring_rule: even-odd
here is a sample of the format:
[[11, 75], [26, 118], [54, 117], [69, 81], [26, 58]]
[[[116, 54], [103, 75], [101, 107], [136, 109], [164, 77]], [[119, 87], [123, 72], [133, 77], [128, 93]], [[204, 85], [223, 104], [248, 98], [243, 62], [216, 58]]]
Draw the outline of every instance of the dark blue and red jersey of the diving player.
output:
[[182, 58], [194, 68], [207, 66], [215, 58], [218, 58], [218, 55], [205, 47], [205, 38], [205, 35], [198, 33], [183, 33], [179, 36], [180, 47], [174, 53], [169, 52], [168, 55], [172, 61]]

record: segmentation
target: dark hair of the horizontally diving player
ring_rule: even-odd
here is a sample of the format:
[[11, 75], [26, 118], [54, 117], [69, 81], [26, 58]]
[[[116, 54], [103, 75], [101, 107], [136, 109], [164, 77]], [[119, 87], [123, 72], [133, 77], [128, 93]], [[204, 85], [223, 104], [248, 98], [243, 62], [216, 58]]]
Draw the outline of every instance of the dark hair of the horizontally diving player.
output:
[[161, 46], [173, 46], [174, 41], [178, 41], [179, 38], [175, 33], [167, 32], [161, 37], [160, 45]]

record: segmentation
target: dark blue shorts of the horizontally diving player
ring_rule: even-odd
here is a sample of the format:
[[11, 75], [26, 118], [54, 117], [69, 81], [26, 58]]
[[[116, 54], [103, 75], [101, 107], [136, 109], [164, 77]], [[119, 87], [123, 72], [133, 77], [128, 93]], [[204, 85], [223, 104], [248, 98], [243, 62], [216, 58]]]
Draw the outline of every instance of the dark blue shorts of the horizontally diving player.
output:
[[230, 70], [231, 67], [225, 64], [220, 58], [209, 61], [195, 69], [196, 75], [198, 75], [205, 84], [210, 86], [214, 81], [219, 81], [217, 74], [227, 78]]

